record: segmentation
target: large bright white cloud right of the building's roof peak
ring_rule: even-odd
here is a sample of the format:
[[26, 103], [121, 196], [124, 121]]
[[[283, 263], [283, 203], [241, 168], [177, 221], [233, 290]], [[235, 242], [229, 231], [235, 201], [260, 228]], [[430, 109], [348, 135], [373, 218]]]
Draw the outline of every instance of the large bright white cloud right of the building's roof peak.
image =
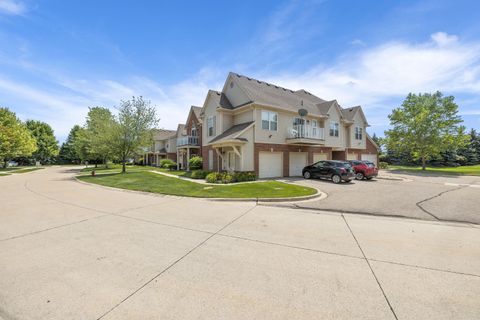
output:
[[266, 75], [283, 86], [306, 90], [345, 106], [367, 109], [409, 92], [480, 94], [480, 43], [464, 43], [446, 33], [432, 41], [389, 42], [365, 47], [324, 67], [297, 74]]

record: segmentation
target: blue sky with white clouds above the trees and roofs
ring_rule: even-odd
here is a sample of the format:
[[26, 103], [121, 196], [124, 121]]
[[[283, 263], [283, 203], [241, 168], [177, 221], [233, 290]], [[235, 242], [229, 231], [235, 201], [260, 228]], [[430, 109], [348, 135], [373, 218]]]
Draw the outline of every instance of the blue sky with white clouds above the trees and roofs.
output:
[[176, 128], [229, 71], [343, 107], [368, 132], [409, 92], [454, 95], [480, 129], [478, 1], [0, 0], [0, 105], [63, 141], [90, 106], [143, 95]]

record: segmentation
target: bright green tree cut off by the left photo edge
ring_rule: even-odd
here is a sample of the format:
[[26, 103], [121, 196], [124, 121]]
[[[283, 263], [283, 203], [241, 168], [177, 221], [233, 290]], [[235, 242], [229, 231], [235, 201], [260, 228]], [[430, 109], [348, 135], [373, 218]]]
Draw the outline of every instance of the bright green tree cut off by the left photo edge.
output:
[[0, 108], [0, 160], [4, 167], [13, 158], [30, 156], [36, 148], [35, 139], [15, 113]]

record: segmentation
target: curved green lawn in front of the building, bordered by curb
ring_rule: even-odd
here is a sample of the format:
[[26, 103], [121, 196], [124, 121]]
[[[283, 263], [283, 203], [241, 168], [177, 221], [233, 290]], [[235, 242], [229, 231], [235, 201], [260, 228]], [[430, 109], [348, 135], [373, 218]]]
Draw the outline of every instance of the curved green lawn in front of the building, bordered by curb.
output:
[[317, 190], [278, 181], [212, 186], [147, 171], [80, 176], [80, 180], [121, 189], [199, 198], [285, 198], [312, 195]]

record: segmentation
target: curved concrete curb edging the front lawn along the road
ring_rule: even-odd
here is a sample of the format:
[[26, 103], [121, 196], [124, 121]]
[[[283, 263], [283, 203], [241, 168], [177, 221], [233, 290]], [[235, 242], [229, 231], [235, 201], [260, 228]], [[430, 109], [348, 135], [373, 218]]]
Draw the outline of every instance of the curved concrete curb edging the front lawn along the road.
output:
[[200, 198], [200, 197], [189, 197], [189, 196], [176, 196], [164, 193], [155, 193], [155, 192], [148, 192], [148, 191], [138, 191], [138, 190], [129, 190], [129, 189], [122, 189], [122, 188], [114, 188], [108, 186], [102, 186], [96, 183], [89, 183], [78, 179], [79, 176], [72, 177], [76, 182], [87, 185], [87, 186], [95, 186], [99, 188], [104, 188], [107, 190], [115, 190], [115, 191], [122, 191], [122, 192], [131, 192], [155, 197], [169, 197], [169, 198], [176, 198], [176, 199], [197, 199], [197, 200], [204, 200], [204, 201], [219, 201], [219, 202], [297, 202], [297, 201], [306, 201], [319, 198], [319, 200], [323, 200], [327, 197], [327, 194], [317, 190], [317, 193], [308, 195], [308, 196], [300, 196], [300, 197], [289, 197], [289, 198]]

